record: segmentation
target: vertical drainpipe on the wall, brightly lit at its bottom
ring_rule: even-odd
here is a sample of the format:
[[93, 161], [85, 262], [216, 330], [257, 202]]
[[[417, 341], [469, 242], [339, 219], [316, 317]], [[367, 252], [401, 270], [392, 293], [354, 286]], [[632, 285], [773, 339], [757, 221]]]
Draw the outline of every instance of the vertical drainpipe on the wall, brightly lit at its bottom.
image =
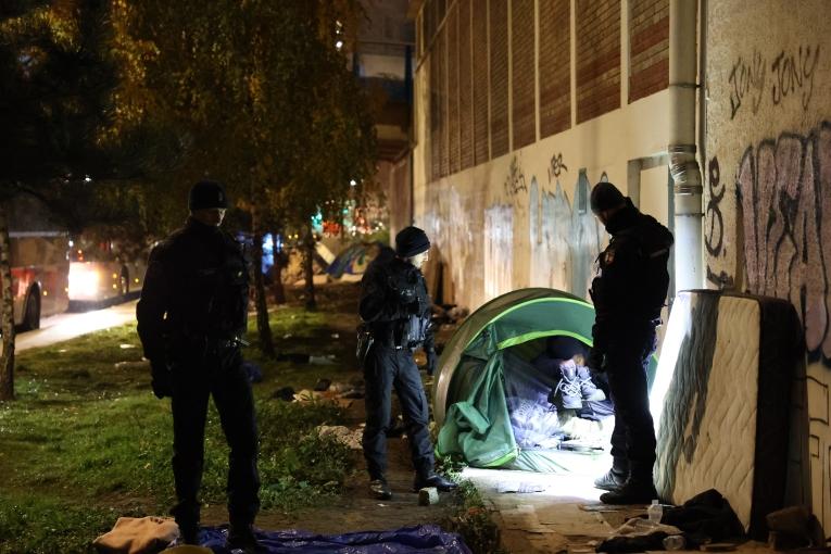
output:
[[[702, 0], [704, 1], [704, 0]], [[676, 290], [704, 286], [702, 178], [695, 158], [698, 2], [669, 0], [669, 173], [675, 185]]]

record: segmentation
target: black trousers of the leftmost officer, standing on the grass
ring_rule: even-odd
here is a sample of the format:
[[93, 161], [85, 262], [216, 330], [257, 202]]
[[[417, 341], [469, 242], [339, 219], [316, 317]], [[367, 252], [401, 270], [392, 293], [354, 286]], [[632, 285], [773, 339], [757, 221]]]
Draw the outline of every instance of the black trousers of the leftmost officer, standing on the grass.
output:
[[173, 366], [173, 475], [178, 503], [171, 513], [179, 527], [199, 524], [205, 418], [207, 399], [213, 396], [230, 449], [228, 516], [232, 524], [251, 524], [260, 509], [257, 430], [251, 382], [239, 348], [209, 348], [204, 355], [174, 357], [178, 361]]

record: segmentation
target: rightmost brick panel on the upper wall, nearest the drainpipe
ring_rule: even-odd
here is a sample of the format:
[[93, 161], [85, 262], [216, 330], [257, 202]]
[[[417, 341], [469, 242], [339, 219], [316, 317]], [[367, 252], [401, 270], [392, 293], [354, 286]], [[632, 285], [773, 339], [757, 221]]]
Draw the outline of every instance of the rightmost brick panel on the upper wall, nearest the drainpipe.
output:
[[669, 0], [630, 0], [629, 102], [669, 84]]

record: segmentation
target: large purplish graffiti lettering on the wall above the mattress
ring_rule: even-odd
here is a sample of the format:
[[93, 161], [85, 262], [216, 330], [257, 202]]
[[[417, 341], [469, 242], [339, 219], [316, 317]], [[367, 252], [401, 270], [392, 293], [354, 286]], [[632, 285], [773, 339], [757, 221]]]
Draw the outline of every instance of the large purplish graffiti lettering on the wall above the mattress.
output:
[[831, 366], [831, 122], [748, 147], [736, 194], [747, 288], [791, 301], [810, 357]]

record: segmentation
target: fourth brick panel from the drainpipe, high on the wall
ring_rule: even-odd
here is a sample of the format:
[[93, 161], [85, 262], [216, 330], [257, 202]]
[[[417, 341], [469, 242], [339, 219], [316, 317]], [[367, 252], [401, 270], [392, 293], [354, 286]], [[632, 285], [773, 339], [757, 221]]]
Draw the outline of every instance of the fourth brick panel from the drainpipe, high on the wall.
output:
[[[545, 3], [545, 2], [543, 2]], [[512, 117], [514, 149], [537, 140], [533, 0], [511, 3]]]

